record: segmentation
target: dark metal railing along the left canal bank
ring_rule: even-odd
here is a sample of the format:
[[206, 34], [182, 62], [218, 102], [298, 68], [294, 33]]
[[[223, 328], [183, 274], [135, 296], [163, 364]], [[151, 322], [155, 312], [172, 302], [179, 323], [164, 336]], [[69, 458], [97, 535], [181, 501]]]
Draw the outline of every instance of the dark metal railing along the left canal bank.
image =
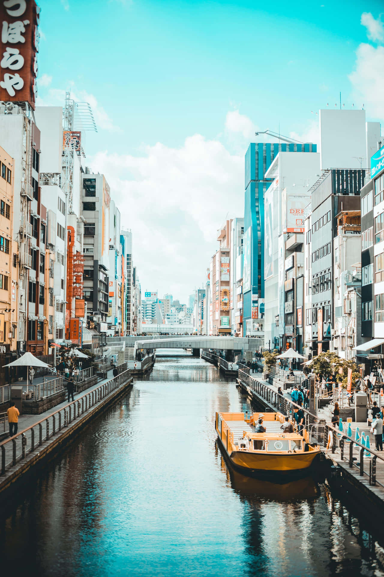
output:
[[130, 371], [126, 370], [117, 375], [117, 377], [113, 377], [113, 379], [107, 381], [107, 383], [85, 393], [62, 409], [58, 409], [55, 413], [49, 415], [49, 417], [41, 419], [41, 421], [0, 443], [0, 475], [4, 475], [7, 470], [16, 466], [17, 462], [25, 459], [27, 454], [36, 450], [39, 451], [39, 447], [41, 447], [43, 443], [49, 441], [51, 437], [54, 437], [72, 421], [85, 414], [95, 404], [100, 403], [102, 399], [119, 388], [121, 384], [126, 383], [129, 378]]

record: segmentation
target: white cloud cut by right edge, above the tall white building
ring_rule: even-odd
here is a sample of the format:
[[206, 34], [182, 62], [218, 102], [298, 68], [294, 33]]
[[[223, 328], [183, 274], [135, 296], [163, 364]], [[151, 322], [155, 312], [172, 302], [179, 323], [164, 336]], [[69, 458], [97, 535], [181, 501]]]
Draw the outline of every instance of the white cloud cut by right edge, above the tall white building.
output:
[[353, 87], [353, 100], [364, 104], [370, 117], [384, 118], [384, 47], [360, 44], [356, 50], [355, 70], [348, 78]]

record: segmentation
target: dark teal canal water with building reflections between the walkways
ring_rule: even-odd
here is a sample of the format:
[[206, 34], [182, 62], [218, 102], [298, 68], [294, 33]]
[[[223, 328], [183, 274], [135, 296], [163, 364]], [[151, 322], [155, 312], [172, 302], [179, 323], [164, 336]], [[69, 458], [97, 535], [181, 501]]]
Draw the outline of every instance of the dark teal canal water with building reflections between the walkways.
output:
[[227, 469], [214, 416], [249, 408], [235, 381], [161, 352], [2, 505], [4, 575], [384, 575], [382, 519], [359, 520], [319, 479], [273, 485]]

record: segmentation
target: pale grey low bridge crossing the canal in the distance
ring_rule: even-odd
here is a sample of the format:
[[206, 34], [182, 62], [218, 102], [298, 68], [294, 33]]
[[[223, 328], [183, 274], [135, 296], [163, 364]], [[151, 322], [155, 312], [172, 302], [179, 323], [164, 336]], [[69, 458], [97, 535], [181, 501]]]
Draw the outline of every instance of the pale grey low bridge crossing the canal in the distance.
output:
[[120, 347], [138, 349], [219, 349], [256, 351], [264, 346], [264, 334], [258, 338], [235, 336], [120, 336], [107, 338], [107, 346], [119, 350]]

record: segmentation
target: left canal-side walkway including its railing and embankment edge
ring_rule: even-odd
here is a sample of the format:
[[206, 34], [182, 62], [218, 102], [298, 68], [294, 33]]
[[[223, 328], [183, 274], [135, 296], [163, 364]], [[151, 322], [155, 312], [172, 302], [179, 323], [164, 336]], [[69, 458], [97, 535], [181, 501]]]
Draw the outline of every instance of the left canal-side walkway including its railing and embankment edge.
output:
[[74, 395], [74, 402], [60, 403], [40, 415], [20, 415], [17, 436], [0, 443], [0, 492], [12, 485], [33, 464], [63, 445], [132, 380], [129, 370], [113, 377], [111, 369], [107, 379]]

